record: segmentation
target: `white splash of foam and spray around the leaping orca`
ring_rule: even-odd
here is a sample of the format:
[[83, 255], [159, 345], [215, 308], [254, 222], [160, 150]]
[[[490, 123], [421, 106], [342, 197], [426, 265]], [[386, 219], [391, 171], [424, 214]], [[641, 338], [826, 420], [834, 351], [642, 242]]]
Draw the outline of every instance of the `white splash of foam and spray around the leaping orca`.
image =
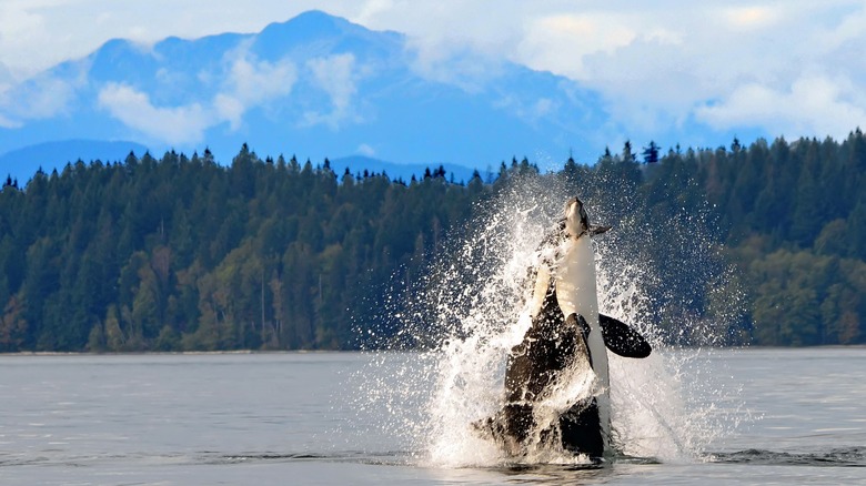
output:
[[[411, 302], [395, 311], [404, 332], [433, 346], [411, 355], [402, 368], [397, 366], [391, 374], [399, 376], [389, 377], [389, 384], [374, 384], [372, 399], [367, 399], [384, 404], [390, 411], [385, 427], [402, 435], [424, 465], [495, 466], [517, 460], [471, 424], [494, 415], [503, 405], [507, 354], [531, 324], [523, 304], [531, 293], [527, 270], [536, 263], [542, 236], [573, 195], [567, 183], [552, 178], [526, 178], [511, 184], [476, 207], [472, 224], [407, 292], [411, 297], [405, 298]], [[703, 397], [714, 393], [712, 378], [698, 376], [702, 352], [665, 348], [662, 333], [652, 324], [650, 317], [659, 312], [658, 301], [647, 295], [650, 283], [659, 277], [654, 269], [658, 262], [645, 251], [653, 227], [646, 226], [646, 220], [610, 220], [617, 204], [622, 209], [628, 201], [607, 205], [601, 196], [577, 195], [584, 199], [593, 223], [614, 226], [610, 237], [603, 235], [595, 243], [601, 311], [634, 325], [654, 346], [645, 360], [608, 353], [615, 446], [627, 456], [693, 460], [733, 425], [712, 399], [688, 401], [697, 387]], [[708, 247], [706, 242], [695, 231], [687, 237], [684, 234], [679, 244]], [[706, 251], [693, 253], [693, 261], [669, 264], [689, 269], [706, 263], [701, 261], [708, 257]], [[542, 415], [553, 419], [593, 393], [586, 374], [575, 376], [584, 379], [565, 381], [537, 407]], [[722, 391], [717, 392], [721, 396]], [[724, 393], [729, 395], [729, 391]], [[414, 405], [404, 409], [412, 412], [401, 415], [395, 404], [410, 402]], [[586, 458], [536, 447], [518, 462], [584, 464]]]

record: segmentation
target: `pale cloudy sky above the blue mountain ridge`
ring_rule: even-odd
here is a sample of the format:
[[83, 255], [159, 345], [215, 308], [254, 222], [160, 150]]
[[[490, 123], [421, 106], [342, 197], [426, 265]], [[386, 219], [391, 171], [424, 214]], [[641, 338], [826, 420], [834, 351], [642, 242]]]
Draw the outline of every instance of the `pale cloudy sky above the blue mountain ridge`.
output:
[[404, 33], [430, 75], [471, 75], [471, 52], [571, 78], [646, 133], [866, 128], [866, 0], [0, 0], [0, 98], [112, 38], [258, 32], [312, 9]]

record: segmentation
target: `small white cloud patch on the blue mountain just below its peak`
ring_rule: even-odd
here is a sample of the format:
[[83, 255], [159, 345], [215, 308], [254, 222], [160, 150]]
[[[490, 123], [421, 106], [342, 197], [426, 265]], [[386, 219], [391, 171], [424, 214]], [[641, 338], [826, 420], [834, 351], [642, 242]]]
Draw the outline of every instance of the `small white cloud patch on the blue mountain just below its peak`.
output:
[[306, 61], [306, 68], [319, 88], [331, 97], [332, 111], [320, 113], [308, 111], [304, 119], [309, 124], [324, 123], [338, 129], [340, 123], [353, 120], [352, 98], [355, 95], [355, 57], [351, 53], [335, 54]]

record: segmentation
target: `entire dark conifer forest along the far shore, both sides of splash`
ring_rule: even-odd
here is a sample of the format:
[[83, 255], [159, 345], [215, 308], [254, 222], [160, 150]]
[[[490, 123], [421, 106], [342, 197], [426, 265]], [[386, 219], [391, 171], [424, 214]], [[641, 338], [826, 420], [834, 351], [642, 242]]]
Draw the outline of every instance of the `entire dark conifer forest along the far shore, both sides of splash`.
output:
[[[864, 343], [864, 174], [859, 130], [666, 153], [626, 143], [591, 165], [541, 174], [513, 160], [470, 181], [335, 174], [246, 145], [230, 165], [207, 151], [79, 161], [0, 192], [0, 352], [355, 348], [359, 326], [399, 332], [377, 305], [394, 276], [425, 272], [521, 178], [626, 191], [625, 209], [653, 221], [701, 214], [735, 270], [699, 285], [669, 275], [656, 325], [672, 343], [689, 344], [686, 314], [724, 321], [723, 344]], [[741, 295], [742, 313], [715, 313]]]

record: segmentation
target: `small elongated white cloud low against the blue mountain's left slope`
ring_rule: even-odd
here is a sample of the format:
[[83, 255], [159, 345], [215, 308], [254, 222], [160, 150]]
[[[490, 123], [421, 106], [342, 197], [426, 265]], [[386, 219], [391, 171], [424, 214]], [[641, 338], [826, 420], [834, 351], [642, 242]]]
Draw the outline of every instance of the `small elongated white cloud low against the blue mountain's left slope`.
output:
[[201, 142], [214, 119], [199, 103], [159, 108], [147, 94], [125, 84], [109, 83], [99, 92], [99, 105], [127, 126], [169, 144]]

